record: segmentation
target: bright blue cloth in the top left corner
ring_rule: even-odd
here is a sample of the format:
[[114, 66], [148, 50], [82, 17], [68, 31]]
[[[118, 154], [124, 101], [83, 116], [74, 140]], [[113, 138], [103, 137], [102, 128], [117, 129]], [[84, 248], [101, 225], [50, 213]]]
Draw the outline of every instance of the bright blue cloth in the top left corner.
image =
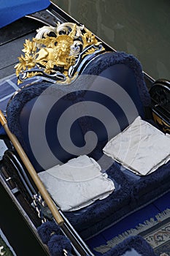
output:
[[25, 15], [43, 10], [49, 5], [49, 0], [1, 0], [0, 29]]

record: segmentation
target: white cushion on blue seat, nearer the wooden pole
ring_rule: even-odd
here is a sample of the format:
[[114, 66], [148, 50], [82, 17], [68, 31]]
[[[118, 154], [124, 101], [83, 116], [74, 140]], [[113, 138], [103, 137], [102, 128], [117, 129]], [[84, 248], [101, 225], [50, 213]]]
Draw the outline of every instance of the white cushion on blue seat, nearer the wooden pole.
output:
[[86, 155], [39, 173], [47, 191], [63, 211], [74, 211], [104, 199], [115, 189], [107, 173]]

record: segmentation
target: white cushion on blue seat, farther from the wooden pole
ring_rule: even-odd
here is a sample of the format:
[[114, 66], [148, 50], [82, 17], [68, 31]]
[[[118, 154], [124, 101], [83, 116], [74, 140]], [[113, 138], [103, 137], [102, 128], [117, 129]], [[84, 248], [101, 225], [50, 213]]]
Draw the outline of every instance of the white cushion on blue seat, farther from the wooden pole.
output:
[[103, 151], [128, 170], [145, 176], [169, 161], [170, 138], [138, 116], [109, 140]]

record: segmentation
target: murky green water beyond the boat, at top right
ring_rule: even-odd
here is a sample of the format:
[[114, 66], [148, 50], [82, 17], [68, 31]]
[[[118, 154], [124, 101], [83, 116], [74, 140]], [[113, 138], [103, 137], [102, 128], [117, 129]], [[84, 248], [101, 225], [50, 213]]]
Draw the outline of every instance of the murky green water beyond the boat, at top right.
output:
[[152, 78], [170, 79], [169, 0], [53, 0], [105, 42], [132, 53]]

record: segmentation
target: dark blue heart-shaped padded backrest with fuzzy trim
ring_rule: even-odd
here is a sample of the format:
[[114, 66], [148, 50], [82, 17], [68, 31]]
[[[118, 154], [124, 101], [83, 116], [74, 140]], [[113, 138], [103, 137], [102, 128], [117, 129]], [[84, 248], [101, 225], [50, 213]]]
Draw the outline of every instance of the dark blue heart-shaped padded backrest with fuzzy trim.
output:
[[9, 129], [39, 172], [91, 155], [136, 116], [144, 118], [149, 104], [139, 61], [125, 53], [105, 53], [68, 86], [37, 83], [22, 89], [7, 116]]

